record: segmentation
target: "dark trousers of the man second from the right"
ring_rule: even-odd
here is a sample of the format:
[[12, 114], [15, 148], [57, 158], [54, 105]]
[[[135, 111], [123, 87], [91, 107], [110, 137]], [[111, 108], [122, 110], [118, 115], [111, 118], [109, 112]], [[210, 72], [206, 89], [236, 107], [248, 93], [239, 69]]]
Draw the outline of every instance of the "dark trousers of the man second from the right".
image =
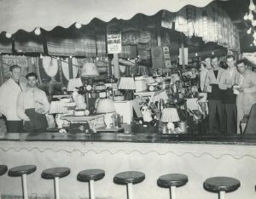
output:
[[236, 104], [224, 104], [227, 120], [227, 134], [236, 134], [237, 109]]

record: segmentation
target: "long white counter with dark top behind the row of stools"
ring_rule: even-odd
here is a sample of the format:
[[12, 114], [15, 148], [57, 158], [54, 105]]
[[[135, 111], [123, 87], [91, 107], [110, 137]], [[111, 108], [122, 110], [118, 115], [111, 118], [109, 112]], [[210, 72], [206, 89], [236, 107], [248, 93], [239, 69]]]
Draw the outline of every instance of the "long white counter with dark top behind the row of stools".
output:
[[[89, 198], [88, 185], [77, 180], [79, 171], [88, 168], [106, 173], [95, 183], [97, 198], [126, 198], [125, 185], [114, 184], [113, 176], [127, 170], [146, 174], [142, 183], [133, 186], [135, 198], [170, 198], [169, 189], [156, 183], [166, 173], [189, 177], [186, 185], [177, 188], [177, 198], [216, 198], [216, 193], [203, 188], [204, 180], [213, 176], [241, 181], [238, 190], [227, 194], [229, 198], [255, 196], [255, 134], [4, 134], [0, 143], [1, 164], [9, 168], [37, 166], [37, 171], [27, 176], [32, 198], [54, 198], [53, 181], [41, 178], [42, 171], [52, 167], [71, 168], [71, 173], [60, 179], [61, 198]], [[5, 174], [0, 184], [2, 196], [21, 196], [20, 178]]]

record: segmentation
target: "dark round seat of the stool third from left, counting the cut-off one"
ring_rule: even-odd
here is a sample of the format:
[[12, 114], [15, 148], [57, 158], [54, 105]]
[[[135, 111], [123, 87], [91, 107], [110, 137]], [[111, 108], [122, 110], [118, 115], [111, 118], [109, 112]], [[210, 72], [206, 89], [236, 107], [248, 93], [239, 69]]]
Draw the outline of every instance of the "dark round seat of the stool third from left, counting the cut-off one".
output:
[[43, 179], [62, 178], [70, 173], [70, 168], [47, 168], [41, 173]]

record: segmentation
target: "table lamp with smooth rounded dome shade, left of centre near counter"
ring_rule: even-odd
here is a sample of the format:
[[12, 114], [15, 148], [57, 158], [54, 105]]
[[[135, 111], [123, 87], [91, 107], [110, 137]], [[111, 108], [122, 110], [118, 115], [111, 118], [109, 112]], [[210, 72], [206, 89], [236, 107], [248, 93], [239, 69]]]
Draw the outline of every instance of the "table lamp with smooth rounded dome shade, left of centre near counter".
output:
[[99, 99], [96, 107], [96, 113], [105, 113], [104, 122], [106, 124], [106, 128], [110, 128], [113, 112], [115, 112], [113, 99]]

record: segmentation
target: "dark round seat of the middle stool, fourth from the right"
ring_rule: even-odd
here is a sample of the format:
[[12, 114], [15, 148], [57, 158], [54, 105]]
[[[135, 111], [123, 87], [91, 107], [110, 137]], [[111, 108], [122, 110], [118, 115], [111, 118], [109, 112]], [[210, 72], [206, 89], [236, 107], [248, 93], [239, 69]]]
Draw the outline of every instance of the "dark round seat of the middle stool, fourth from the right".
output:
[[105, 171], [102, 169], [87, 169], [79, 172], [78, 180], [88, 182], [90, 180], [99, 180], [105, 176]]

